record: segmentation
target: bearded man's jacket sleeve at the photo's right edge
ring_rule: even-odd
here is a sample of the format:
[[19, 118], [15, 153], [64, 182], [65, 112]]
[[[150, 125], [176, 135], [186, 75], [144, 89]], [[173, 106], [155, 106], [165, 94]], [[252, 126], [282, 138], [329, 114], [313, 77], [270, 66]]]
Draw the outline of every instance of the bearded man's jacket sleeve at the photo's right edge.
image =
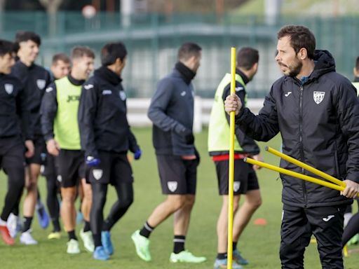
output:
[[346, 179], [359, 183], [359, 99], [349, 81], [339, 86], [337, 113], [341, 131], [347, 137], [348, 160]]

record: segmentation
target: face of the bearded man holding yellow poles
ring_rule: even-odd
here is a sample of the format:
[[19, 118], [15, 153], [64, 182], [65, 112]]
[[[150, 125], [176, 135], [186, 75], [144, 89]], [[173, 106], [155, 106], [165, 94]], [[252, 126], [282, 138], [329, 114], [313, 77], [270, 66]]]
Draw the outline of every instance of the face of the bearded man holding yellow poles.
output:
[[302, 70], [302, 61], [297, 57], [294, 48], [290, 46], [289, 36], [278, 39], [276, 62], [285, 76], [297, 76]]

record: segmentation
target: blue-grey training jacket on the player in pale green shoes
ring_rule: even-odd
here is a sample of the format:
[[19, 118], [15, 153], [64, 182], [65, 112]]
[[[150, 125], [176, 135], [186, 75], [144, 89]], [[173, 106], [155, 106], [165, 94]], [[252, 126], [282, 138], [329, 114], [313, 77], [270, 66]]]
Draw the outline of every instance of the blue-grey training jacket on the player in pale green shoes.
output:
[[194, 144], [186, 144], [184, 132], [194, 125], [194, 87], [174, 69], [158, 82], [147, 116], [154, 123], [152, 140], [157, 155], [194, 155]]

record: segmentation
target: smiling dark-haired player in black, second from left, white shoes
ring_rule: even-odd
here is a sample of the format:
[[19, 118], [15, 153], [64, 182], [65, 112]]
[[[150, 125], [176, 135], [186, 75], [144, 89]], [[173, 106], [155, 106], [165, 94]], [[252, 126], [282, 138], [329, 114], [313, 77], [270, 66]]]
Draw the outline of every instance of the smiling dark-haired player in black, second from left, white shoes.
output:
[[[27, 96], [29, 97], [29, 110], [32, 128], [34, 129], [34, 146], [35, 152], [32, 158], [27, 158], [27, 176], [25, 181], [25, 194], [23, 205], [24, 223], [22, 226], [22, 234], [20, 242], [22, 244], [37, 244], [37, 241], [31, 235], [31, 225], [34, 216], [36, 201], [38, 198], [37, 181], [40, 175], [40, 168], [43, 164], [43, 156], [46, 156], [46, 145], [43, 140], [40, 126], [40, 105], [43, 92], [46, 86], [50, 84], [51, 78], [49, 72], [35, 64], [35, 60], [39, 55], [41, 38], [34, 32], [18, 32], [15, 36], [15, 44], [18, 47], [19, 60], [15, 63], [11, 70], [11, 74], [17, 77], [24, 85]], [[20, 202], [20, 201], [19, 201]], [[13, 211], [18, 216], [18, 208]], [[17, 219], [17, 218], [15, 218]], [[11, 222], [11, 221], [10, 221]], [[16, 222], [16, 221], [14, 221]], [[43, 228], [48, 226], [48, 216], [43, 223]], [[13, 225], [10, 225], [12, 228]], [[10, 228], [9, 227], [9, 228]], [[16, 230], [13, 235], [16, 235]]]

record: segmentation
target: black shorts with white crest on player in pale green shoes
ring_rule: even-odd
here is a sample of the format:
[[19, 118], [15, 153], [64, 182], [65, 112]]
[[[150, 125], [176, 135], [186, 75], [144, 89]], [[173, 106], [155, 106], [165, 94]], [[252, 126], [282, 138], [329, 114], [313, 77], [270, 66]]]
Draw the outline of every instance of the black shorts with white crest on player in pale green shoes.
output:
[[163, 194], [196, 194], [196, 160], [182, 160], [180, 156], [157, 155]]

